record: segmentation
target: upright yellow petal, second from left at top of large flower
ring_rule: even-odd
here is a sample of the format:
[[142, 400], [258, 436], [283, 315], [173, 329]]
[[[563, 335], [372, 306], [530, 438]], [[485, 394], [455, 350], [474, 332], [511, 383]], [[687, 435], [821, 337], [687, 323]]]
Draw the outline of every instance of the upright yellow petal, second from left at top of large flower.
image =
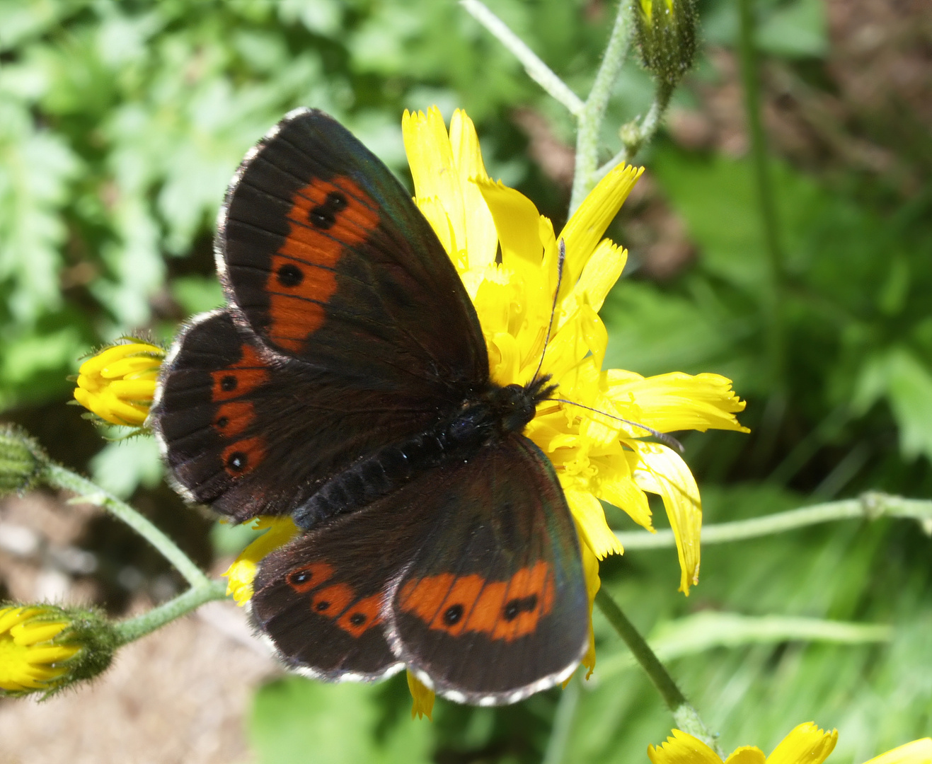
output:
[[473, 120], [466, 112], [457, 109], [450, 119], [450, 146], [453, 163], [459, 175], [459, 188], [463, 198], [466, 247], [469, 267], [484, 267], [495, 262], [499, 236], [495, 231], [492, 213], [475, 181], [487, 181], [486, 166], [482, 161], [479, 139]]

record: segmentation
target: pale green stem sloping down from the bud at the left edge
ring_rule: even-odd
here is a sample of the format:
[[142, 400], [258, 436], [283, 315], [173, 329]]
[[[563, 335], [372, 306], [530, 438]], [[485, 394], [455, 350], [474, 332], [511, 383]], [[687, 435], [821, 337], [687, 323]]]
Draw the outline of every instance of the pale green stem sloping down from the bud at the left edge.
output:
[[43, 471], [43, 479], [54, 488], [73, 491], [77, 494], [71, 499], [71, 503], [88, 503], [103, 507], [114, 517], [129, 525], [152, 544], [171, 565], [175, 566], [192, 587], [199, 588], [210, 584], [211, 580], [191, 561], [190, 557], [178, 548], [174, 541], [125, 501], [121, 501], [104, 491], [99, 485], [91, 483], [87, 478], [66, 470], [58, 464], [47, 464]]

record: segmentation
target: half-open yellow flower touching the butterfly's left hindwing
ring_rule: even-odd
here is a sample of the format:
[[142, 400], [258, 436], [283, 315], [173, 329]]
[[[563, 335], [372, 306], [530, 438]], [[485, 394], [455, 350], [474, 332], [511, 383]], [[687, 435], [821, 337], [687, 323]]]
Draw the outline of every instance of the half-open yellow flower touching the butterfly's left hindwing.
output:
[[156, 392], [165, 351], [127, 337], [103, 348], [78, 369], [75, 401], [115, 425], [142, 427]]

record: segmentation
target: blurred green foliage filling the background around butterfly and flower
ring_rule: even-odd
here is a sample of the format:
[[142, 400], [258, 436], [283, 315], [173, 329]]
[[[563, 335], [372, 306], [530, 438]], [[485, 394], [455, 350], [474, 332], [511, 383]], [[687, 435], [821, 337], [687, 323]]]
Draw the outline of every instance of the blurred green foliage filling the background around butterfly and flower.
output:
[[[489, 6], [571, 88], [587, 91], [612, 4]], [[757, 6], [765, 62], [815, 92], [834, 89], [823, 0]], [[700, 86], [716, 86], [710, 61], [733, 50], [737, 34], [733, 0], [707, 0], [701, 11], [706, 49], [675, 100], [686, 108]], [[650, 101], [650, 77], [626, 65], [603, 129], [606, 158], [619, 126]], [[71, 422], [65, 376], [82, 353], [130, 330], [167, 341], [180, 321], [222, 301], [215, 211], [243, 153], [286, 111], [329, 111], [404, 178], [402, 110], [432, 103], [447, 117], [464, 107], [490, 174], [562, 222], [568, 189], [529, 158], [514, 109], [541, 115], [564, 143], [572, 122], [454, 3], [0, 3], [0, 407], [27, 423]], [[910, 167], [906, 190], [863, 167], [775, 160], [786, 253], [775, 318], [748, 160], [668, 137], [643, 157], [697, 256], [659, 280], [633, 248], [602, 313], [607, 364], [645, 375], [719, 372], [748, 399], [751, 436], [685, 441], [707, 522], [867, 488], [932, 491], [932, 168], [920, 143], [901, 140], [895, 117], [852, 117], [850, 129]], [[623, 212], [610, 233], [625, 242], [636, 223], [637, 210]], [[779, 363], [765, 340], [772, 321], [785, 338]], [[150, 442], [95, 456], [100, 445], [85, 437], [68, 458], [124, 496], [158, 482]], [[218, 552], [232, 549], [228, 530], [214, 533]], [[889, 644], [706, 647], [671, 663], [726, 748], [766, 750], [815, 719], [841, 730], [832, 761], [844, 764], [932, 727], [929, 552], [914, 525], [848, 522], [709, 547], [689, 600], [674, 591], [673, 553], [629, 553], [603, 573], [637, 625], [658, 633], [688, 626], [680, 619], [700, 610], [894, 624]], [[377, 687], [288, 677], [258, 691], [251, 741], [260, 761], [276, 764], [309, 752], [321, 762], [646, 761], [670, 717], [597, 616], [596, 633], [599, 668], [575, 707], [575, 690], [496, 710], [438, 701], [428, 724], [410, 721], [404, 677]], [[556, 716], [569, 719], [562, 759]]]

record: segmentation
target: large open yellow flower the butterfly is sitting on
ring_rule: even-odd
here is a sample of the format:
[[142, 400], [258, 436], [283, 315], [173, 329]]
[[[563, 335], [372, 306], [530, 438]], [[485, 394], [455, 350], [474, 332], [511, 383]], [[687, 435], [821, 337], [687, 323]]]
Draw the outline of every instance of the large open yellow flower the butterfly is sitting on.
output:
[[[402, 130], [415, 201], [473, 300], [492, 378], [500, 385], [527, 383], [541, 362], [558, 277], [557, 242], [563, 239], [563, 279], [541, 374], [559, 385], [559, 398], [619, 418], [544, 401], [526, 434], [553, 462], [580, 537], [598, 560], [623, 551], [600, 500], [653, 530], [646, 493], [663, 498], [677, 538], [680, 590], [689, 593], [699, 573], [702, 524], [692, 473], [671, 448], [641, 440], [647, 430], [619, 419], [661, 432], [747, 431], [734, 417], [745, 404], [720, 375], [645, 378], [602, 370], [608, 334], [597, 311], [627, 257], [602, 234], [641, 170], [610, 171], [556, 234], [528, 198], [488, 178], [473, 123], [463, 112], [454, 113], [449, 133], [436, 108], [427, 115], [405, 112]], [[587, 569], [597, 575], [597, 566]]]

